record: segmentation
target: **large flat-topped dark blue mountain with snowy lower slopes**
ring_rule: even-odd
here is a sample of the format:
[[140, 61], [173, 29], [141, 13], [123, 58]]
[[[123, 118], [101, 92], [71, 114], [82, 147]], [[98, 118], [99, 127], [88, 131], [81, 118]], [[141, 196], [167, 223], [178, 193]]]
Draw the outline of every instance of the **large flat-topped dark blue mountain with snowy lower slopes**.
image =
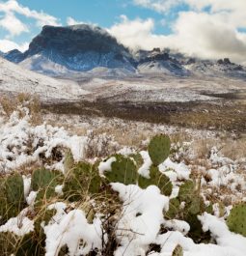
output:
[[9, 55], [9, 60], [21, 62], [30, 70], [51, 74], [91, 71], [97, 67], [134, 71], [134, 60], [127, 48], [105, 30], [85, 24], [44, 26], [26, 52]]

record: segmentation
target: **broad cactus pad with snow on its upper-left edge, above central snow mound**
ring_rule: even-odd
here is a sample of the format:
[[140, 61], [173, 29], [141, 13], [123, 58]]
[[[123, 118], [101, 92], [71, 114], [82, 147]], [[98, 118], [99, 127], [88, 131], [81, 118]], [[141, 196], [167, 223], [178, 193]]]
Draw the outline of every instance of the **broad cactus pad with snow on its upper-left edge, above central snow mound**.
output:
[[111, 164], [111, 171], [104, 173], [109, 183], [135, 185], [137, 182], [137, 167], [132, 159], [116, 155], [116, 161]]

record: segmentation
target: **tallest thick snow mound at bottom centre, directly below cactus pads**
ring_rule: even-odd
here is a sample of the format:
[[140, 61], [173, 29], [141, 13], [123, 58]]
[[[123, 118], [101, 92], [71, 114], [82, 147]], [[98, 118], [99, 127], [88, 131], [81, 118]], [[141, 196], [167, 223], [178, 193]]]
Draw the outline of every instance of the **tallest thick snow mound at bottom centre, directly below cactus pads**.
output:
[[163, 210], [169, 208], [169, 198], [155, 185], [141, 189], [138, 185], [112, 184], [123, 201], [123, 213], [116, 235], [121, 243], [115, 256], [145, 255], [155, 242], [163, 221]]

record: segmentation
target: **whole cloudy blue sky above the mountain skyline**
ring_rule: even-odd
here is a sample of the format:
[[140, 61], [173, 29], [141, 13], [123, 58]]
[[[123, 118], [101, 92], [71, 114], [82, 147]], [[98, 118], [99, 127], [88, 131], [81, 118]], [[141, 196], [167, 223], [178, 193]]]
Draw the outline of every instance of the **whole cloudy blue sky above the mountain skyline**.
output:
[[132, 49], [244, 62], [245, 10], [245, 0], [0, 0], [0, 50], [25, 50], [44, 24], [91, 23]]

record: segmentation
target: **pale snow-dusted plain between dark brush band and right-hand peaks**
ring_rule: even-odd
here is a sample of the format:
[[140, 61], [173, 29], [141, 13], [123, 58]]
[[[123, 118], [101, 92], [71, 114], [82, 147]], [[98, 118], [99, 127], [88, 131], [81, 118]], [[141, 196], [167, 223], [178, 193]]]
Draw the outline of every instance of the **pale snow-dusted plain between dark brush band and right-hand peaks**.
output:
[[218, 101], [217, 95], [238, 94], [245, 99], [246, 82], [233, 78], [156, 76], [77, 78], [83, 90], [90, 91], [84, 100], [130, 102]]

